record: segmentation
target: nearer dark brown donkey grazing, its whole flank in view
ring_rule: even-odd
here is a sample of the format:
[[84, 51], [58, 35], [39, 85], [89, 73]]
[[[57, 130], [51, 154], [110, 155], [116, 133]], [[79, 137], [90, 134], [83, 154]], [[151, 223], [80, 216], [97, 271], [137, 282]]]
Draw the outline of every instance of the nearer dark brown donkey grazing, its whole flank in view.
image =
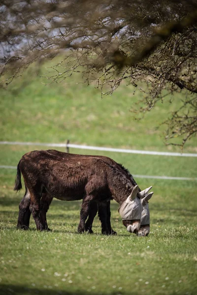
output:
[[[131, 215], [133, 216], [124, 220], [124, 224], [127, 228], [129, 226], [131, 232], [139, 229], [142, 206], [136, 198], [138, 187], [133, 189], [131, 179], [128, 179], [126, 172], [110, 158], [72, 155], [54, 150], [29, 152], [18, 164], [15, 190], [22, 187], [21, 172], [25, 180], [26, 194], [20, 203], [18, 227], [29, 226], [32, 211], [37, 229], [45, 229], [47, 224], [42, 211], [47, 211], [53, 199], [52, 196], [67, 201], [83, 198], [78, 227], [78, 232], [81, 233], [85, 230], [85, 220], [92, 202], [106, 208], [109, 199], [113, 198], [122, 205], [131, 193], [130, 201], [126, 204], [134, 203], [135, 205], [126, 207], [132, 207]], [[29, 202], [31, 211], [27, 209]], [[100, 216], [103, 228], [106, 228], [105, 232], [109, 231], [106, 214]], [[122, 214], [124, 215], [124, 212]]]

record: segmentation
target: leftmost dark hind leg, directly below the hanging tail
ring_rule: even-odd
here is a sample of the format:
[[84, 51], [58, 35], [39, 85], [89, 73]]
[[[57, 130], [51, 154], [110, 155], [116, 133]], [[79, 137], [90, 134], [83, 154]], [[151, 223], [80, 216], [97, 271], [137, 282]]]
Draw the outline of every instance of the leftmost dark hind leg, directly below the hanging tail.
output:
[[28, 188], [26, 187], [25, 195], [19, 204], [19, 216], [18, 216], [18, 223], [17, 228], [28, 230], [30, 225], [30, 192]]

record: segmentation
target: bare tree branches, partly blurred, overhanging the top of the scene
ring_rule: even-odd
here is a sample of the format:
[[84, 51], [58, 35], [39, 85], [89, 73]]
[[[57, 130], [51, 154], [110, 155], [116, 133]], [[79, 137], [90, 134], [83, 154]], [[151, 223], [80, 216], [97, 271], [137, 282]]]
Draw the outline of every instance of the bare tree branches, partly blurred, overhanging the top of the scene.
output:
[[1, 86], [34, 61], [57, 55], [50, 83], [81, 71], [111, 94], [123, 80], [145, 82], [144, 108], [184, 91], [166, 118], [166, 139], [184, 143], [197, 133], [197, 0], [2, 0]]

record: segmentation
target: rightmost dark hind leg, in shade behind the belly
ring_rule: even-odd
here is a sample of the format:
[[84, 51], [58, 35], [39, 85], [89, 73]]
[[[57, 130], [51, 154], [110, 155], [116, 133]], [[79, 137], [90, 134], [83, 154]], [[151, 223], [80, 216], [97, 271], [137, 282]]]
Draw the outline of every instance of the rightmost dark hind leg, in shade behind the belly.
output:
[[49, 206], [50, 206], [52, 200], [53, 200], [53, 197], [51, 197], [49, 194], [42, 193], [42, 197], [40, 200], [39, 217], [40, 217], [41, 223], [44, 225], [44, 230], [46, 230], [46, 231], [51, 231], [47, 225], [46, 213], [49, 209]]

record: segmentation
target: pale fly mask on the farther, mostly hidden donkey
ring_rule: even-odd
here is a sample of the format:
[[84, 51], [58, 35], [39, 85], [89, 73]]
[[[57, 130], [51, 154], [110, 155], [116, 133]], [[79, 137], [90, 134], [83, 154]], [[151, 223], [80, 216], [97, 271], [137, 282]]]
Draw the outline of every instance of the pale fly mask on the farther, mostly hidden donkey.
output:
[[141, 225], [147, 225], [150, 224], [150, 211], [148, 207], [148, 201], [153, 195], [153, 192], [149, 193], [149, 190], [152, 188], [152, 186], [144, 189], [143, 191], [139, 192], [141, 204], [143, 207], [142, 213], [141, 213]]

